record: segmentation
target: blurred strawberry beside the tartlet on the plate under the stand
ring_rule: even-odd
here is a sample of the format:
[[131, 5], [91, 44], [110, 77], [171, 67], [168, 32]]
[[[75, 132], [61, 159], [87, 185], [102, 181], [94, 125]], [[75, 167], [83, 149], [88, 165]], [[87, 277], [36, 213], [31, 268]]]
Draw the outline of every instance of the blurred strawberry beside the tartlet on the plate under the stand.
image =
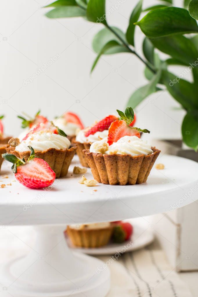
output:
[[133, 233], [133, 226], [129, 222], [118, 222], [113, 228], [112, 240], [116, 243], [122, 243], [129, 240]]

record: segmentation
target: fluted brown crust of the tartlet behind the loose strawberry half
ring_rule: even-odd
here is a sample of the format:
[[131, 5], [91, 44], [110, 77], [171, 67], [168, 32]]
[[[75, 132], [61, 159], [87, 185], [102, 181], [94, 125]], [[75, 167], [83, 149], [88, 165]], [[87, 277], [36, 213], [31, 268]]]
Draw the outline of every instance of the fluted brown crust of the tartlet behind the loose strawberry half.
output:
[[[14, 154], [20, 159], [27, 159], [30, 156], [30, 151], [19, 152], [15, 147], [9, 146], [6, 149], [7, 153]], [[45, 151], [35, 151], [35, 156], [45, 160], [51, 169], [56, 173], [56, 178], [66, 176], [68, 173], [69, 165], [75, 155], [76, 148], [69, 149], [54, 149], [50, 148]]]

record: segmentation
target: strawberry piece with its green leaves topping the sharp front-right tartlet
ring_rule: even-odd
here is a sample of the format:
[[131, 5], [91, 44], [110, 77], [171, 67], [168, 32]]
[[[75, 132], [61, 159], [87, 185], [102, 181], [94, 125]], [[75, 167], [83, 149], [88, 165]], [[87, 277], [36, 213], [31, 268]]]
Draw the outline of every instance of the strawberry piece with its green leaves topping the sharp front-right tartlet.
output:
[[109, 145], [117, 142], [121, 137], [124, 136], [137, 136], [140, 138], [140, 132], [150, 133], [147, 129], [140, 129], [137, 127], [132, 127], [134, 124], [134, 111], [131, 107], [127, 107], [125, 112], [117, 109], [120, 116], [119, 120], [114, 121], [109, 127], [109, 133], [107, 137], [107, 142]]

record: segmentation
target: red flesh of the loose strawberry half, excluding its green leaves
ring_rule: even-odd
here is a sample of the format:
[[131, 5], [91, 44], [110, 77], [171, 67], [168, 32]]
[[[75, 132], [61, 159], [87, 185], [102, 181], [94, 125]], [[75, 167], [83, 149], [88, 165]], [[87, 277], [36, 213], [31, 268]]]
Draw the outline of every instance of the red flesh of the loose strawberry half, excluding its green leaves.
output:
[[15, 177], [23, 186], [39, 189], [53, 184], [56, 174], [47, 162], [35, 158], [25, 165], [18, 166]]

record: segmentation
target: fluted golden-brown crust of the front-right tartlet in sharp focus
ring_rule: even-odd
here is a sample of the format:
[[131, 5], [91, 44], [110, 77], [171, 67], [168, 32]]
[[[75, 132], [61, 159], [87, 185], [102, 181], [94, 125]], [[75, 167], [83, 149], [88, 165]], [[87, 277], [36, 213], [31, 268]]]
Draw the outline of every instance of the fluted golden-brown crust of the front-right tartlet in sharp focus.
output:
[[147, 181], [149, 173], [161, 152], [155, 147], [152, 154], [131, 156], [128, 154], [90, 153], [84, 149], [83, 154], [91, 168], [94, 179], [102, 184], [134, 185]]

